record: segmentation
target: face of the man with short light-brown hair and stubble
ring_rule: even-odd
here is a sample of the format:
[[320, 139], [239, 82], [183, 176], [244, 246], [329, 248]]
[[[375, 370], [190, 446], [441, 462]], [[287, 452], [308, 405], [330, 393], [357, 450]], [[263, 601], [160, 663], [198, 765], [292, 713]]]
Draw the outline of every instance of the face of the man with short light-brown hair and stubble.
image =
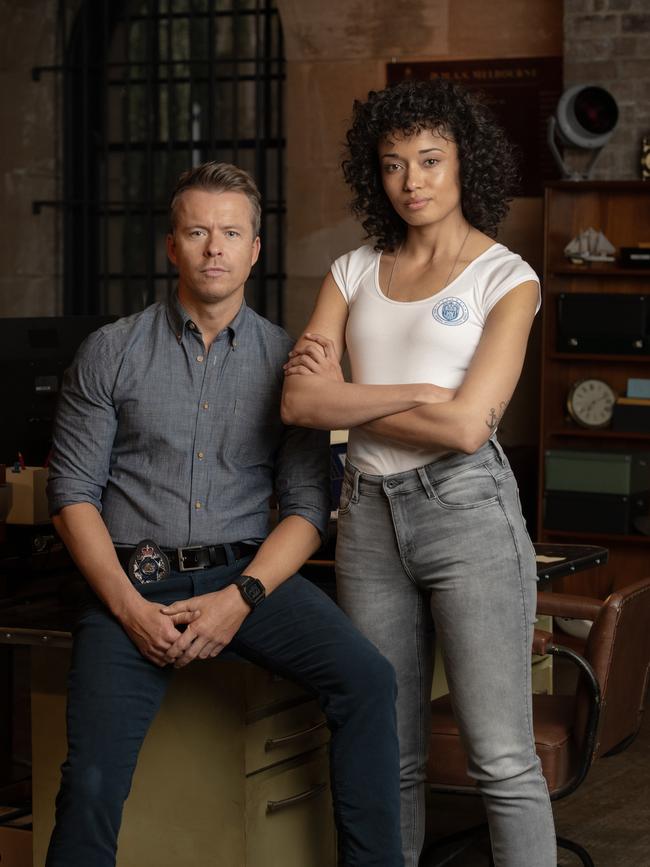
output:
[[182, 194], [174, 231], [167, 236], [181, 304], [239, 306], [259, 252], [251, 205], [243, 193], [190, 189]]

